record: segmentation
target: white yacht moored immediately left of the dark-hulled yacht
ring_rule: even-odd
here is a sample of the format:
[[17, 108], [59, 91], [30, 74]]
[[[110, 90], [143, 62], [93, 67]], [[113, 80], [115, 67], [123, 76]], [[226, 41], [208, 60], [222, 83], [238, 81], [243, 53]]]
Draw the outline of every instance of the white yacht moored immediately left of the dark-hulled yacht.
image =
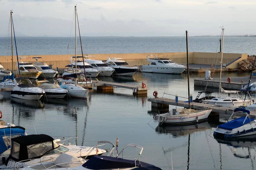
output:
[[96, 59], [90, 59], [89, 57], [94, 57], [94, 56], [89, 56], [87, 55], [84, 60], [93, 66], [94, 69], [98, 69], [99, 76], [104, 76], [104, 77], [109, 77], [112, 75], [112, 73], [115, 71], [115, 69], [111, 68], [108, 66], [106, 63], [103, 63], [101, 60], [96, 60]]

